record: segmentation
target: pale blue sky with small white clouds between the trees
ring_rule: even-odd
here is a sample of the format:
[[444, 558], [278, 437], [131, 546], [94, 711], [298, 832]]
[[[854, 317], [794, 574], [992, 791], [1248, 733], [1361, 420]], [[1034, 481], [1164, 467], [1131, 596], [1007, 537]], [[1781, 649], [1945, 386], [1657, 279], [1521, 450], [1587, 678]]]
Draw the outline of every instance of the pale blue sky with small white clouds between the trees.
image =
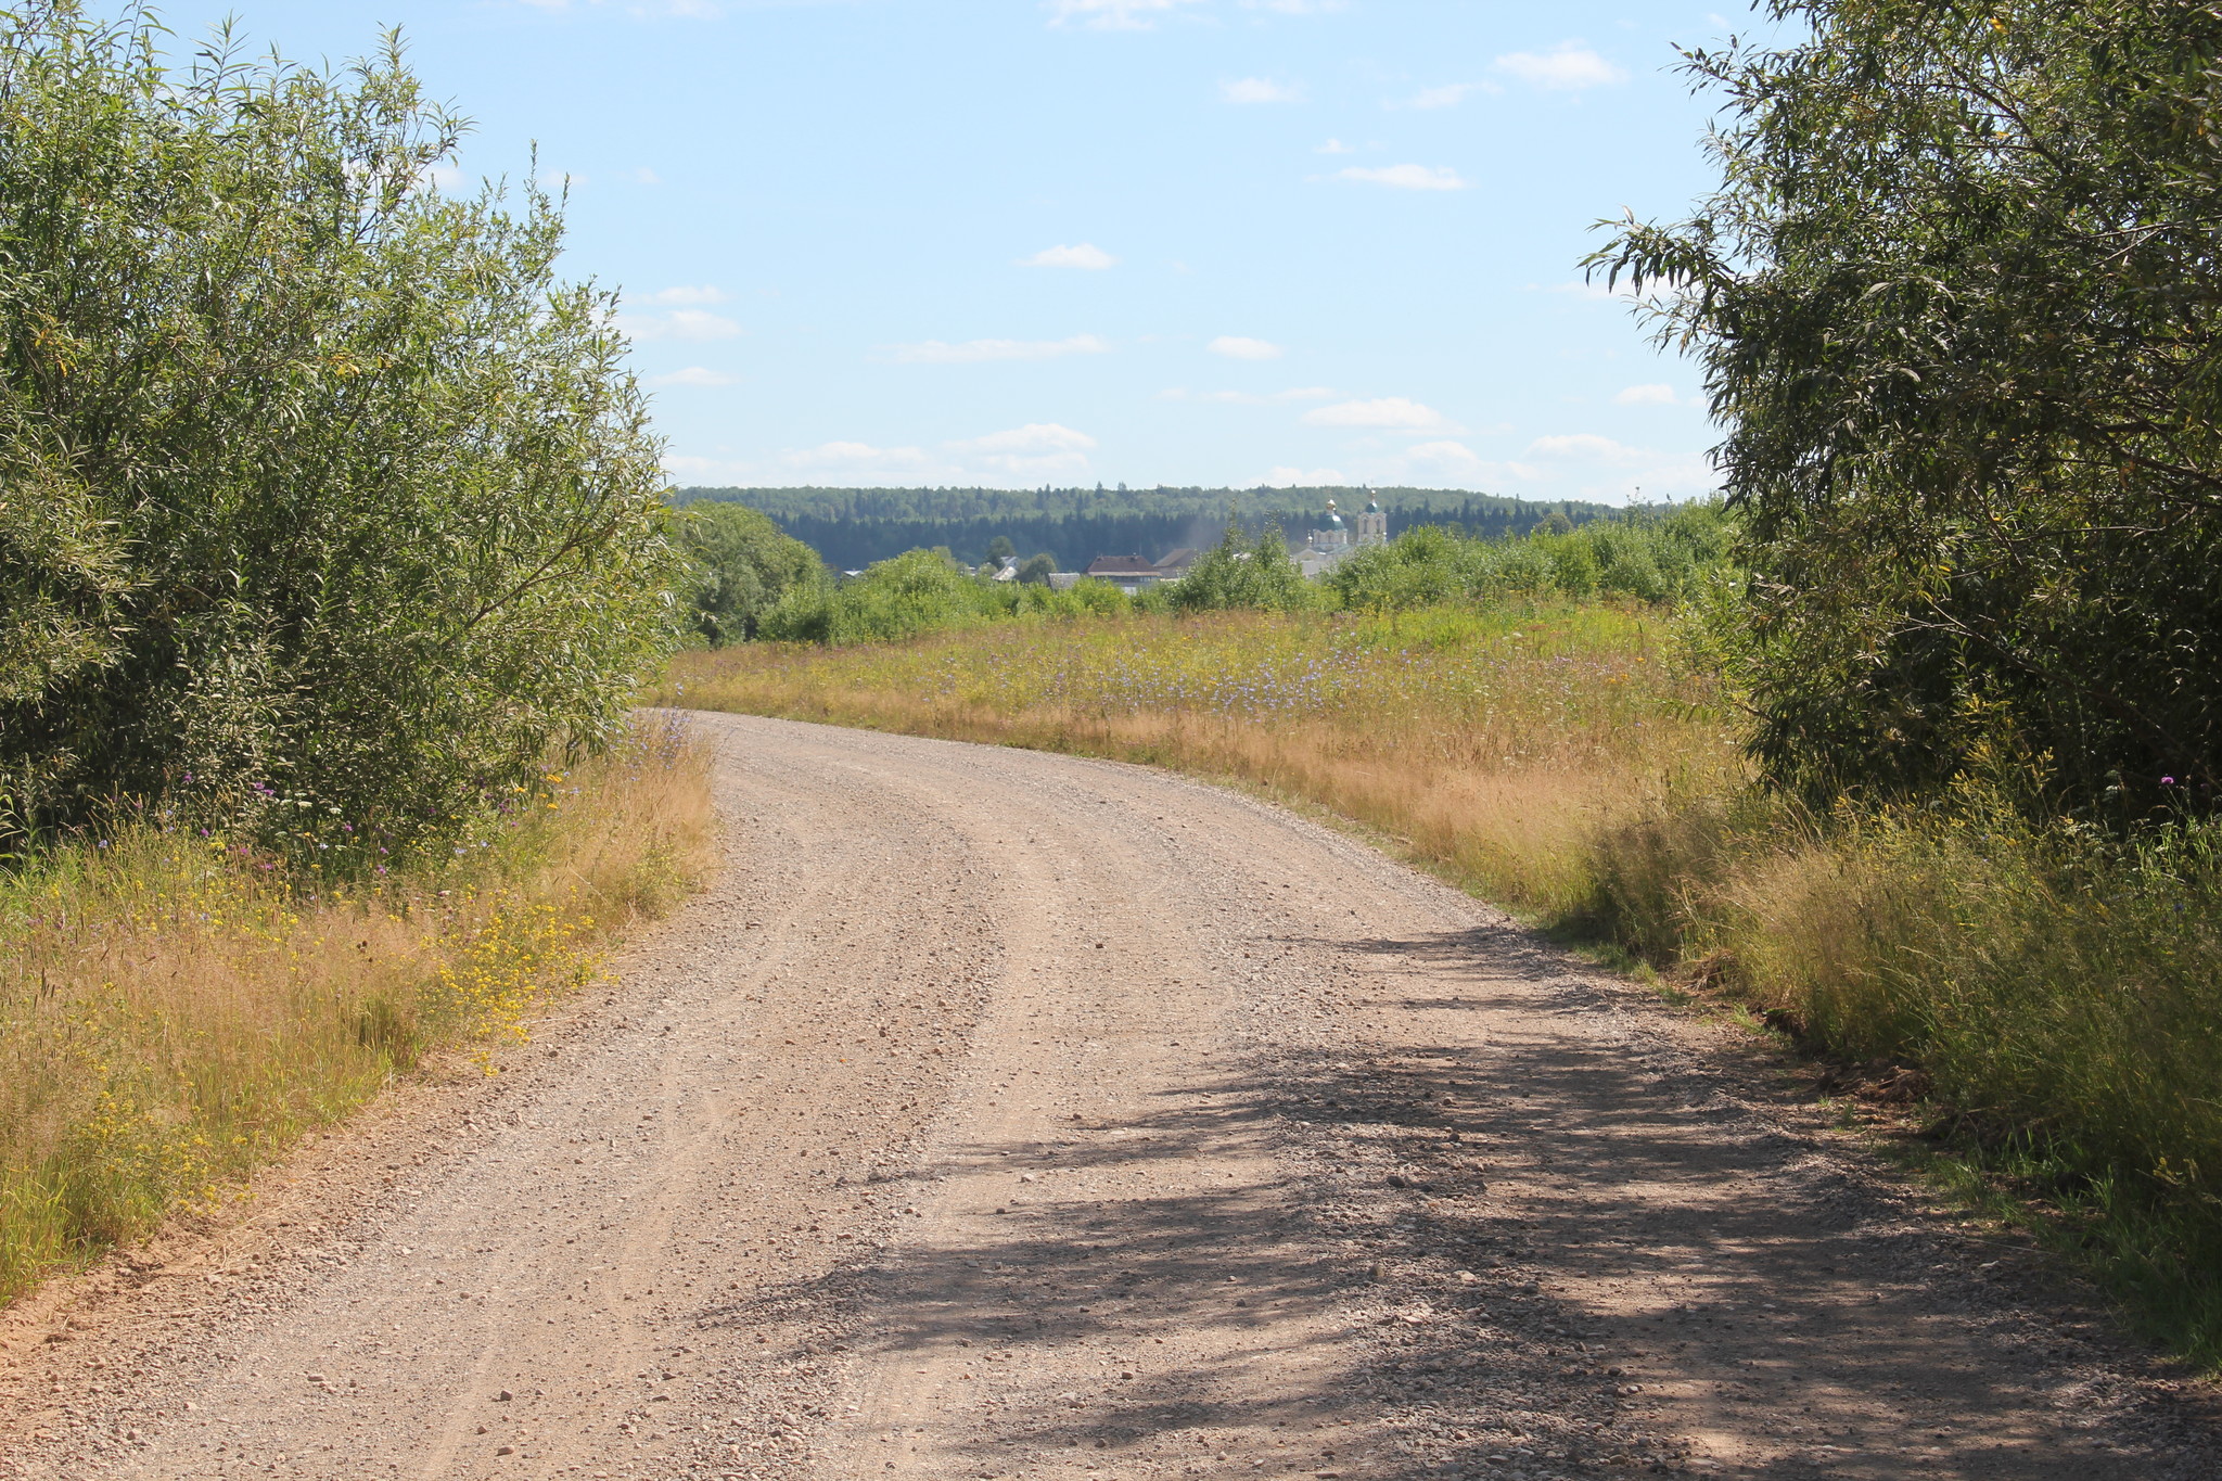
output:
[[[1718, 2], [1718, 0], [1715, 0]], [[689, 484], [1689, 497], [1695, 375], [1575, 262], [1680, 215], [1713, 9], [1449, 0], [227, 0], [402, 24], [464, 178], [571, 178]], [[1735, 11], [1749, 24], [1749, 16]]]

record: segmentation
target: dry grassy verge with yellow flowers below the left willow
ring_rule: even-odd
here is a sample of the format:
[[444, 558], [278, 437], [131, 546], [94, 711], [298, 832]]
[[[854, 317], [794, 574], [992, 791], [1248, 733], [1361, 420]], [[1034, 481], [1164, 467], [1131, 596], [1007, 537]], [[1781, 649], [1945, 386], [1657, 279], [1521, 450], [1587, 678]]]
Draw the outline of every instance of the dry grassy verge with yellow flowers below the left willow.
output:
[[153, 822], [0, 877], [0, 1303], [427, 1057], [484, 1064], [707, 857], [707, 759], [642, 724], [376, 886]]

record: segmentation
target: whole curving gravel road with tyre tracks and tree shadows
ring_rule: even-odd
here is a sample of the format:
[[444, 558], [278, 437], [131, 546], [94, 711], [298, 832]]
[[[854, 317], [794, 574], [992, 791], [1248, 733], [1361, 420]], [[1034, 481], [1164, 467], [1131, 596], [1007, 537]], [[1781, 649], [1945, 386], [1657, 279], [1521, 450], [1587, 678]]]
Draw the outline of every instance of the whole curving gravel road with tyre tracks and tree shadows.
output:
[[0, 1477], [2218, 1477], [1749, 1037], [1131, 766], [695, 722], [729, 873], [502, 1077], [0, 1321]]

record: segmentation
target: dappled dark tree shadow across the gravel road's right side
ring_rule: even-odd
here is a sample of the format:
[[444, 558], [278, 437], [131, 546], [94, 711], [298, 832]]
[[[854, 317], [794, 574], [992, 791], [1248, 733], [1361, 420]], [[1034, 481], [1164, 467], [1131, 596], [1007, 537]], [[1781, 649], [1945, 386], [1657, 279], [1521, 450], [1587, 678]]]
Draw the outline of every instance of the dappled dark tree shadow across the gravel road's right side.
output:
[[[1427, 964], [1431, 993], [1387, 1006], [1429, 1039], [1260, 1055], [1155, 1112], [964, 1148], [1013, 1188], [1038, 1175], [1038, 1201], [702, 1319], [838, 1299], [887, 1363], [967, 1350], [1018, 1390], [982, 1425], [982, 1477], [1058, 1448], [1229, 1474], [1213, 1457], [1240, 1437], [1235, 1470], [1264, 1477], [1629, 1474], [1693, 1452], [1751, 1477], [2140, 1474], [2071, 1445], [1975, 1257], [1733, 1077], [1613, 1028], [1562, 959], [1504, 930], [1311, 946]], [[1260, 1152], [1280, 1177], [1102, 1192]], [[1024, 1390], [1044, 1366], [1093, 1381]]]

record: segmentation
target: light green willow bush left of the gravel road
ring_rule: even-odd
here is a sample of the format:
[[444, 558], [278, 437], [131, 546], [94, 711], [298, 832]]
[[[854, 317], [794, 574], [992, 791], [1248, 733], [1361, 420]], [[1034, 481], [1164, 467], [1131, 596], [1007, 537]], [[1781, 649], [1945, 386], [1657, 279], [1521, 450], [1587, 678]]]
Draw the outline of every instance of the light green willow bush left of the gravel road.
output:
[[451, 195], [400, 44], [0, 13], [0, 793], [438, 830], [622, 724], [658, 444], [560, 202]]

